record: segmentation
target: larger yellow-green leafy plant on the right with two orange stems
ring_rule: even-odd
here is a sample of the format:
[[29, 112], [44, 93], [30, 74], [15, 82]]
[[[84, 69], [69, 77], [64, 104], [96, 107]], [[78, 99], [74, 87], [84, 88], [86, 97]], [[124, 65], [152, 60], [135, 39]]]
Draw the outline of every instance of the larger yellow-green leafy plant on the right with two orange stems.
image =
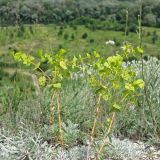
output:
[[[107, 119], [107, 123], [102, 125], [104, 126], [102, 139], [106, 139], [110, 135], [116, 112], [136, 103], [135, 98], [139, 96], [137, 91], [144, 88], [144, 82], [142, 79], [136, 78], [136, 73], [131, 66], [123, 66], [123, 60], [133, 55], [140, 56], [142, 53], [143, 50], [140, 47], [134, 48], [130, 44], [126, 44], [122, 47], [121, 53], [107, 59], [100, 56], [97, 52], [93, 52], [93, 56], [87, 54], [86, 59], [90, 60], [90, 67], [93, 70], [88, 72], [90, 70], [89, 67], [86, 71], [89, 73], [88, 78], [93, 91], [98, 96], [96, 116], [91, 132], [91, 144], [93, 142], [97, 119], [100, 112], [102, 112], [100, 106], [101, 98], [106, 101], [109, 113], [112, 113], [111, 118], [105, 118]], [[126, 105], [124, 106], [124, 104]], [[106, 143], [108, 142], [104, 140], [99, 144], [98, 159]]]

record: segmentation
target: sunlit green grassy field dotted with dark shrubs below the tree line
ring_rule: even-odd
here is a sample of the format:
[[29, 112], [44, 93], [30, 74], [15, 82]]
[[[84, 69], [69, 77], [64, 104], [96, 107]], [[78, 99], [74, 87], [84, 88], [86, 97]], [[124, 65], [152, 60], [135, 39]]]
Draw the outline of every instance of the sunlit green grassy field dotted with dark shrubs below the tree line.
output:
[[[61, 29], [62, 28], [62, 29]], [[157, 39], [153, 42], [153, 34]], [[82, 38], [83, 34], [87, 34]], [[146, 55], [159, 56], [160, 29], [143, 28], [143, 47]], [[106, 45], [106, 41], [114, 40], [116, 48], [120, 48], [124, 41], [124, 32], [95, 30], [84, 26], [56, 26], [56, 25], [26, 25], [22, 27], [1, 28], [0, 54], [6, 54], [8, 49], [22, 50], [27, 53], [35, 53], [39, 49], [52, 52], [59, 48], [65, 48], [70, 56], [84, 54], [96, 50], [101, 54], [111, 54], [112, 48]], [[139, 39], [136, 33], [129, 33], [126, 39], [133, 45], [138, 45]]]

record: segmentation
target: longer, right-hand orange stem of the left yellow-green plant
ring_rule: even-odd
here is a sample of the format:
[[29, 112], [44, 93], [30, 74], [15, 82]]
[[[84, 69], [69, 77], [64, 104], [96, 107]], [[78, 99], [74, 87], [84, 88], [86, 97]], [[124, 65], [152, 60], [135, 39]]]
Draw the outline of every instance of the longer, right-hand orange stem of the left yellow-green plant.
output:
[[61, 120], [61, 110], [60, 110], [59, 93], [57, 93], [57, 95], [56, 95], [56, 101], [57, 101], [57, 110], [58, 110], [59, 143], [60, 143], [61, 147], [63, 147], [62, 120]]

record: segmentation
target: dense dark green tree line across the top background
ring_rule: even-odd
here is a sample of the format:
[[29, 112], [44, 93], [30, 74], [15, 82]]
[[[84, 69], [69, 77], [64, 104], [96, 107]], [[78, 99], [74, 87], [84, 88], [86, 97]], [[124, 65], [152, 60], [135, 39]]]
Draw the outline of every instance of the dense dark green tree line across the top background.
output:
[[[121, 30], [125, 25], [126, 10], [129, 26], [135, 31], [139, 1], [135, 0], [0, 0], [0, 24], [85, 24], [94, 29]], [[160, 2], [145, 0], [142, 6], [145, 26], [160, 26]]]

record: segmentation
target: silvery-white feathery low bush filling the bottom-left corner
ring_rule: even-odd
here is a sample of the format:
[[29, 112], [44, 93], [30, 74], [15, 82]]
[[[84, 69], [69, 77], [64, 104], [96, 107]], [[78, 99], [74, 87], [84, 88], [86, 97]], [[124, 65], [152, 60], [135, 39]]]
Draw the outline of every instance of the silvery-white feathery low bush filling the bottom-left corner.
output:
[[44, 142], [40, 134], [19, 130], [17, 135], [0, 130], [0, 159], [35, 159], [52, 160], [55, 157], [54, 148]]

